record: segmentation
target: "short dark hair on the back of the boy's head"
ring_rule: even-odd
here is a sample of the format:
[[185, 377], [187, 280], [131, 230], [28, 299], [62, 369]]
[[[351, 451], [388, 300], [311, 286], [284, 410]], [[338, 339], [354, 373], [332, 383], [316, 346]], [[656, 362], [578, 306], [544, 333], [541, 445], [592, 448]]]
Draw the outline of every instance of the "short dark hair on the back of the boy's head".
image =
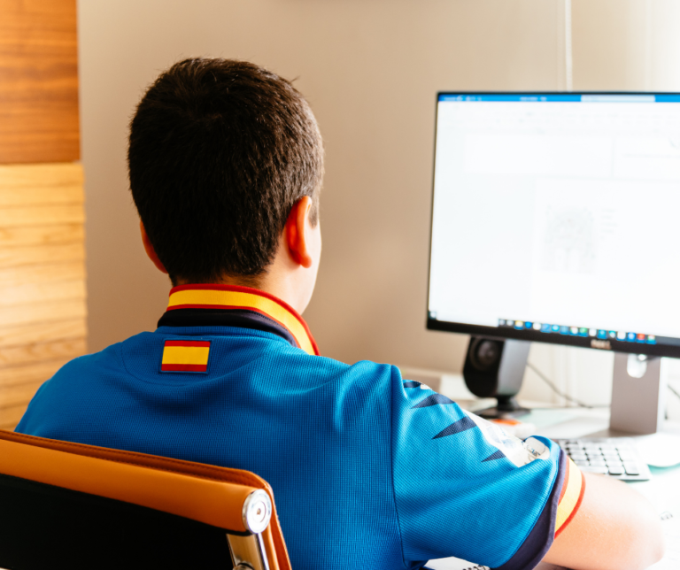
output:
[[173, 283], [254, 278], [273, 261], [290, 209], [319, 208], [323, 145], [305, 98], [258, 65], [174, 64], [130, 123], [130, 189]]

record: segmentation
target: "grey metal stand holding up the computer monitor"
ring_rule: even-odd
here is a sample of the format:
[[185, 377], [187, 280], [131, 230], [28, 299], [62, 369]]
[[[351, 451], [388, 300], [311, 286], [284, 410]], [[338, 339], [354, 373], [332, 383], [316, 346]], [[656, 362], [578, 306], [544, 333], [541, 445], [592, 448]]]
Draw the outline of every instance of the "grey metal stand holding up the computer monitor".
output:
[[644, 354], [614, 354], [613, 432], [655, 434], [663, 428], [668, 387], [665, 358]]

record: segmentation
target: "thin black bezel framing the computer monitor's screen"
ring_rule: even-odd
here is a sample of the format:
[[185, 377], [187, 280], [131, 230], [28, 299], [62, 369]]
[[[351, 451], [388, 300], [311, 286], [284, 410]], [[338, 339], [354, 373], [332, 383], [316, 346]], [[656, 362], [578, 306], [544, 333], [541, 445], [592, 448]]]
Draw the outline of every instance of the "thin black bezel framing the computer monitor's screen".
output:
[[[560, 344], [563, 346], [576, 346], [594, 350], [610, 350], [629, 354], [645, 354], [648, 356], [680, 358], [680, 339], [678, 345], [674, 344], [647, 344], [631, 343], [614, 338], [599, 339], [592, 336], [562, 335], [560, 333], [542, 333], [534, 329], [518, 330], [510, 327], [484, 327], [483, 325], [470, 325], [468, 323], [456, 323], [444, 320], [431, 319], [429, 316], [429, 291], [432, 264], [432, 230], [435, 209], [435, 174], [437, 172], [437, 127], [440, 96], [680, 96], [675, 91], [437, 91], [435, 99], [435, 141], [432, 166], [432, 190], [430, 192], [429, 208], [429, 256], [428, 256], [428, 294], [425, 306], [427, 315], [426, 328], [433, 331], [459, 333], [462, 335], [484, 336], [498, 340], [519, 340], [530, 343]], [[551, 102], [545, 102], [551, 103]], [[510, 315], [508, 315], [510, 316]], [[517, 315], [521, 316], [521, 315]], [[568, 323], [564, 323], [568, 325]], [[572, 325], [568, 325], [572, 326]], [[574, 324], [576, 326], [576, 324]], [[653, 334], [654, 331], [647, 331]], [[659, 337], [657, 337], [658, 339]], [[594, 342], [593, 342], [594, 341]]]

